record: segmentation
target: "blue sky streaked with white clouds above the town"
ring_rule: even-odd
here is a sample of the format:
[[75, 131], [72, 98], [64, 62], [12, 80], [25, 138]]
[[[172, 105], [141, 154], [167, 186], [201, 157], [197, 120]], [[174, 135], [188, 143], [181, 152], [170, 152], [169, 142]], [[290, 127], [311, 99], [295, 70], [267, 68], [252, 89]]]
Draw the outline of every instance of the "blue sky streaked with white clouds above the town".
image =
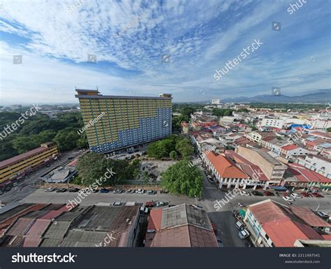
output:
[[[330, 1], [290, 14], [299, 1], [2, 0], [0, 103], [75, 102], [75, 87], [96, 86], [174, 101], [330, 89]], [[263, 45], [216, 81], [254, 39]]]

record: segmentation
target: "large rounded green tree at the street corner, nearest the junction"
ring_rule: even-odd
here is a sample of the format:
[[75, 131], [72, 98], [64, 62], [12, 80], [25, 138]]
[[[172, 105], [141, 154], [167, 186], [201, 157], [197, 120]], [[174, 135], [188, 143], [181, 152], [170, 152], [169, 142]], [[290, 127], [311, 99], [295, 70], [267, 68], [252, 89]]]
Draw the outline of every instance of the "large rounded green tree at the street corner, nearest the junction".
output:
[[188, 160], [182, 160], [170, 166], [161, 175], [161, 184], [172, 194], [185, 194], [191, 198], [203, 195], [203, 176], [196, 166], [189, 166]]

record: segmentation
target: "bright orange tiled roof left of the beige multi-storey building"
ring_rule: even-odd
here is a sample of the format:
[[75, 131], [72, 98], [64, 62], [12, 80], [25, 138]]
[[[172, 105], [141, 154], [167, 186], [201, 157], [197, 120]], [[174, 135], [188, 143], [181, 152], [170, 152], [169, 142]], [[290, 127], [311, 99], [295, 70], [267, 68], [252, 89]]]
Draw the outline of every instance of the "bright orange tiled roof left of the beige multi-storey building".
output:
[[249, 178], [240, 168], [235, 166], [233, 161], [228, 157], [210, 152], [207, 159], [212, 163], [212, 166], [217, 170], [223, 178]]

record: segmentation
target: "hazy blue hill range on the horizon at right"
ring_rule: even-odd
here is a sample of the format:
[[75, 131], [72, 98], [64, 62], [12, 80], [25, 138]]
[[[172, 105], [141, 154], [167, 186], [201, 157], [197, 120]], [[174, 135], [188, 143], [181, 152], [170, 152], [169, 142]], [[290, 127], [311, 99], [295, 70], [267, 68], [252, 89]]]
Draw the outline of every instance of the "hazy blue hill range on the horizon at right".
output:
[[331, 89], [302, 96], [262, 94], [253, 97], [239, 96], [221, 100], [224, 103], [328, 103], [331, 102]]

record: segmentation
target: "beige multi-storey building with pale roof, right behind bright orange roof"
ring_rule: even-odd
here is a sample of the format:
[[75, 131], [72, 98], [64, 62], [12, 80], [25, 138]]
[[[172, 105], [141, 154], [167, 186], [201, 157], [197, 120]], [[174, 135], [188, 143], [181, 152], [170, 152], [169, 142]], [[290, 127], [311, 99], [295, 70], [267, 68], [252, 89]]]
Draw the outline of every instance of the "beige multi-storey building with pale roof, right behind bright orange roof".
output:
[[270, 183], [279, 183], [283, 179], [287, 166], [271, 157], [264, 150], [238, 146], [235, 152], [259, 166]]

